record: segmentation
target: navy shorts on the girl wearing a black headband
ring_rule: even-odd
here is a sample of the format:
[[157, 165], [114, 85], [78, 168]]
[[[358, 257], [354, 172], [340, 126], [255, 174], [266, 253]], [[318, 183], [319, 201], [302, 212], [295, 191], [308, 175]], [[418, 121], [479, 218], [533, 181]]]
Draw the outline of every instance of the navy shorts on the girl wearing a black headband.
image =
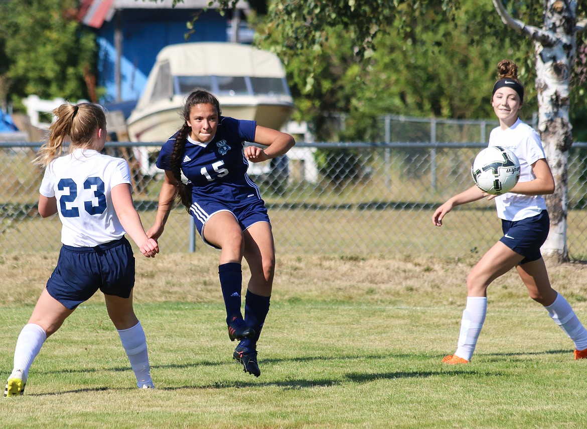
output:
[[540, 247], [548, 237], [550, 219], [548, 212], [542, 210], [536, 216], [522, 220], [501, 220], [501, 229], [504, 236], [500, 241], [511, 248], [515, 253], [524, 256], [520, 265], [539, 260], [542, 257]]

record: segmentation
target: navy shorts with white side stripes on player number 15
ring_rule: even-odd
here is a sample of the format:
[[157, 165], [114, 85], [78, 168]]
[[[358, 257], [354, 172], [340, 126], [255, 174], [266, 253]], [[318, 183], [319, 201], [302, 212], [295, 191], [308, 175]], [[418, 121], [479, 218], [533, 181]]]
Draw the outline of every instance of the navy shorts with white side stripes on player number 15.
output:
[[267, 214], [265, 203], [261, 199], [255, 198], [251, 203], [236, 205], [230, 208], [215, 200], [195, 201], [190, 207], [190, 214], [194, 219], [195, 227], [198, 230], [198, 233], [200, 233], [204, 243], [214, 248], [218, 247], [208, 243], [208, 241], [204, 239], [202, 236], [202, 230], [212, 214], [218, 212], [232, 213], [243, 231], [257, 222], [271, 223], [269, 222], [269, 215]]

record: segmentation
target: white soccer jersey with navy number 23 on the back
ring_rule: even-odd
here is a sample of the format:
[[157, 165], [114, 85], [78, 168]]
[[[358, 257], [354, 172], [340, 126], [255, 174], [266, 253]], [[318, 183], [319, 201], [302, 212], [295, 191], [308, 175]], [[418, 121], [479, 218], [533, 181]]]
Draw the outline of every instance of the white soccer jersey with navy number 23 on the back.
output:
[[57, 199], [63, 244], [94, 247], [124, 236], [111, 196], [121, 183], [130, 183], [127, 162], [91, 149], [76, 149], [47, 166], [39, 192]]

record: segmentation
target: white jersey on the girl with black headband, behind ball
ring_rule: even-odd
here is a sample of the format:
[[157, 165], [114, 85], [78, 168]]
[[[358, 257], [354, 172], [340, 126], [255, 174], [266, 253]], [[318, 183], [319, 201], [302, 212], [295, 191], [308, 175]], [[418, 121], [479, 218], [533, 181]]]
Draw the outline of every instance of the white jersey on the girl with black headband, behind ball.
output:
[[[501, 146], [514, 152], [519, 159], [520, 182], [535, 179], [532, 164], [538, 159], [546, 158], [538, 132], [519, 118], [506, 130], [502, 130], [501, 127], [494, 128], [489, 135], [489, 145]], [[497, 215], [505, 220], [527, 219], [546, 210], [546, 202], [542, 195], [528, 196], [508, 192], [498, 195], [494, 200]]]

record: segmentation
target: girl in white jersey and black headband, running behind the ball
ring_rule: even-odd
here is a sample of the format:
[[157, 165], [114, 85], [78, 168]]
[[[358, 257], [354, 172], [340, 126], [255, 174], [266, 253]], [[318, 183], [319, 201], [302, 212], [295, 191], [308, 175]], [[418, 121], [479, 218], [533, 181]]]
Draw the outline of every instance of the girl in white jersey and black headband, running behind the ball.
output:
[[[450, 365], [470, 362], [485, 321], [487, 287], [514, 267], [530, 297], [544, 305], [554, 322], [575, 343], [575, 359], [585, 359], [587, 331], [566, 299], [552, 289], [540, 254], [540, 247], [549, 229], [542, 195], [554, 192], [554, 178], [538, 133], [518, 117], [524, 101], [524, 87], [518, 80], [518, 67], [508, 60], [502, 60], [497, 68], [499, 79], [493, 87], [491, 105], [500, 120], [500, 126], [491, 131], [489, 145], [513, 151], [519, 159], [521, 172], [511, 192], [488, 198], [495, 199], [504, 236], [481, 257], [467, 277], [467, 307], [463, 311], [457, 350], [453, 355], [446, 356], [443, 362]], [[433, 224], [441, 226], [444, 216], [453, 207], [486, 196], [488, 194], [477, 186], [453, 196], [434, 212]]]

